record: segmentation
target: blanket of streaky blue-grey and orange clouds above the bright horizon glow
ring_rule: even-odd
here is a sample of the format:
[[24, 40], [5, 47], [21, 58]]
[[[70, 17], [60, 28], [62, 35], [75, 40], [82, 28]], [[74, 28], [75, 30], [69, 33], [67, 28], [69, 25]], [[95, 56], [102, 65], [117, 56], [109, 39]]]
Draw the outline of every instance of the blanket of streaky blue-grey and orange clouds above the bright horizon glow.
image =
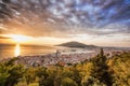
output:
[[130, 0], [0, 0], [0, 23], [31, 35], [130, 33]]

